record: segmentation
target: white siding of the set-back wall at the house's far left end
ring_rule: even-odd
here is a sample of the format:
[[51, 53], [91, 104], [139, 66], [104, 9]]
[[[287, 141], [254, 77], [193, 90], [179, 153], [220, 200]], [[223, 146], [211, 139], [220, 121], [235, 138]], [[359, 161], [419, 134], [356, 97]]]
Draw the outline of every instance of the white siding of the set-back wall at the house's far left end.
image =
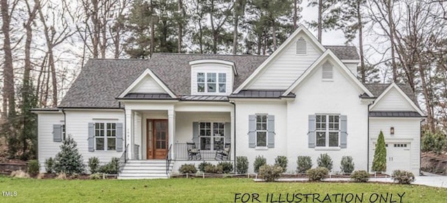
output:
[[64, 124], [64, 114], [61, 112], [38, 113], [38, 160], [41, 164], [40, 172], [45, 172], [45, 160], [54, 158], [60, 151], [62, 142], [53, 142], [53, 125]]

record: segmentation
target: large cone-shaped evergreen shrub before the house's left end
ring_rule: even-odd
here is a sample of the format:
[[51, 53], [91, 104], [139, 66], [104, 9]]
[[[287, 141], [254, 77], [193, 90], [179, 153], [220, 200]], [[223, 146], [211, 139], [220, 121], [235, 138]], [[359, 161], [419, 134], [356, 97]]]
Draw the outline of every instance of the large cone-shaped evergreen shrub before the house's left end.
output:
[[77, 144], [73, 137], [68, 136], [66, 140], [62, 141], [61, 151], [56, 154], [54, 158], [54, 172], [82, 174], [85, 165], [82, 163], [82, 155], [79, 153]]

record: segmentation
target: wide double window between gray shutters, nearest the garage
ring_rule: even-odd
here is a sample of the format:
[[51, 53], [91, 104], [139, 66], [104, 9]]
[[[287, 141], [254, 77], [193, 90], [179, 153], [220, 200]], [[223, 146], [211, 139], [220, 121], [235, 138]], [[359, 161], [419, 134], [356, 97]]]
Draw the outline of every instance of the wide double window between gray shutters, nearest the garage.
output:
[[339, 146], [339, 115], [316, 115], [316, 146]]

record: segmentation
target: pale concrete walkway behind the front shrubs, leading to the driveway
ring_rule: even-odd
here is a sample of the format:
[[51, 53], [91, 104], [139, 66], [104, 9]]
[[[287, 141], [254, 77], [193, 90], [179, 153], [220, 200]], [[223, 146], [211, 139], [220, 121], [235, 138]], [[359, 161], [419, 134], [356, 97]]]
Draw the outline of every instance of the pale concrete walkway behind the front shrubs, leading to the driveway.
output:
[[[422, 185], [422, 186], [432, 186], [439, 188], [447, 188], [447, 176], [440, 176], [437, 174], [427, 174], [424, 173], [425, 176], [416, 176], [415, 181], [412, 184]], [[279, 182], [305, 182], [308, 179], [278, 179]], [[264, 181], [263, 179], [254, 179], [254, 181]], [[349, 178], [333, 178], [333, 179], [323, 179], [323, 181], [331, 182], [331, 181], [351, 181]], [[391, 178], [371, 178], [369, 182], [381, 182], [381, 183], [393, 183], [393, 179]]]

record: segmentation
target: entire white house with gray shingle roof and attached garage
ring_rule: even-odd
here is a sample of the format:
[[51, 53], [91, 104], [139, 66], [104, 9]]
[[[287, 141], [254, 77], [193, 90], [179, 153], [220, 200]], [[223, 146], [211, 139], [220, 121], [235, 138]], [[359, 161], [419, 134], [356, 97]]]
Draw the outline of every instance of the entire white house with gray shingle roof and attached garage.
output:
[[[405, 85], [362, 84], [355, 47], [323, 46], [299, 27], [270, 56], [154, 54], [91, 59], [59, 107], [36, 109], [38, 160], [70, 135], [87, 163], [125, 162], [120, 178], [167, 177], [184, 163], [328, 153], [371, 171], [382, 130], [388, 173], [419, 174], [424, 113]], [[228, 151], [228, 153], [226, 153]]]

